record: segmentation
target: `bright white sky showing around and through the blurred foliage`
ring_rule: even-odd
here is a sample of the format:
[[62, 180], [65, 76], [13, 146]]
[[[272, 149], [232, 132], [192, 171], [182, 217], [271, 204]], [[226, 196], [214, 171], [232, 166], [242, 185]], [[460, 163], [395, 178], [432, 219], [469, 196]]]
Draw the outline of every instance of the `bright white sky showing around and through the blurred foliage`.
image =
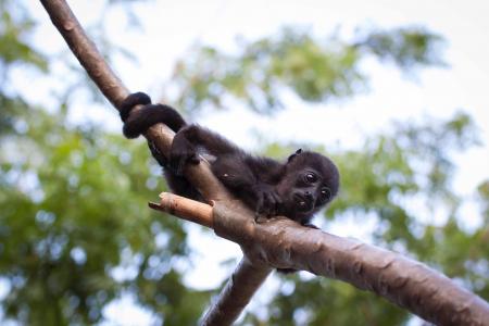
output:
[[[65, 49], [40, 3], [27, 2], [40, 24], [35, 37], [38, 47], [48, 55]], [[70, 4], [82, 24], [88, 25], [102, 13], [103, 1], [70, 1]], [[136, 26], [134, 30], [125, 29], [122, 10], [113, 10], [104, 16], [111, 40], [130, 49], [138, 61], [118, 58], [113, 68], [129, 89], [145, 90], [153, 98], [162, 96], [162, 82], [170, 78], [176, 60], [197, 41], [234, 51], [237, 36], [253, 40], [273, 35], [283, 26], [306, 27], [317, 36], [327, 36], [337, 27], [346, 35], [356, 26], [428, 27], [448, 41], [444, 51], [447, 68], [423, 70], [412, 78], [392, 67], [367, 61], [363, 68], [372, 77], [369, 91], [351, 100], [311, 108], [291, 98], [287, 102], [288, 109], [273, 117], [238, 109], [231, 113], [201, 116], [199, 123], [249, 149], [256, 145], [253, 133], [264, 135], [268, 140], [296, 140], [324, 145], [326, 149], [344, 149], [360, 147], [368, 135], [389, 130], [393, 120], [450, 118], [463, 110], [480, 128], [484, 146], [456, 156], [459, 173], [454, 184], [461, 193], [471, 196], [478, 183], [489, 178], [489, 1], [180, 0], [148, 1], [133, 8], [142, 21], [142, 29]], [[28, 85], [30, 77], [18, 74], [13, 87]], [[45, 86], [24, 89], [33, 102], [49, 106], [50, 87], [55, 88], [57, 83], [60, 82], [50, 80]], [[109, 129], [121, 130], [118, 116], [109, 104], [105, 108], [86, 108], [80, 101], [79, 104], [74, 103], [74, 121], [88, 116], [89, 120], [104, 122]], [[240, 123], [233, 123], [236, 121]], [[467, 206], [466, 210], [466, 215], [471, 216], [474, 208]], [[239, 248], [234, 243], [222, 246], [223, 239], [201, 236], [197, 227], [189, 226], [188, 230], [195, 235], [190, 237], [195, 243], [190, 244], [196, 248], [197, 267], [187, 280], [199, 288], [213, 288], [233, 268], [223, 268], [221, 263], [229, 258], [239, 258]], [[336, 230], [342, 236], [363, 237], [348, 225]], [[209, 255], [198, 249], [212, 248], [215, 243], [220, 246], [220, 254]], [[268, 280], [267, 286], [276, 287], [277, 280]], [[108, 325], [121, 321], [126, 323], [124, 325], [151, 323], [151, 317], [134, 306], [127, 297], [105, 313]]]

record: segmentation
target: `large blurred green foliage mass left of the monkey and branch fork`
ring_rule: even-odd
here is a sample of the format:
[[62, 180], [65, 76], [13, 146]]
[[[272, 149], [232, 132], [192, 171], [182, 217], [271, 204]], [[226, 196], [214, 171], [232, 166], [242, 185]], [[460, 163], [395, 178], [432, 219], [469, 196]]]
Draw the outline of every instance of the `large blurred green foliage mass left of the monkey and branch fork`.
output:
[[[29, 325], [93, 323], [129, 289], [162, 316], [180, 306], [179, 318], [195, 321], [208, 294], [186, 289], [170, 263], [188, 254], [180, 224], [146, 206], [164, 189], [149, 174], [147, 148], [96, 127], [66, 127], [62, 114], [30, 108], [15, 118], [27, 129], [0, 139], [5, 313]], [[136, 271], [114, 279], [121, 268]]]

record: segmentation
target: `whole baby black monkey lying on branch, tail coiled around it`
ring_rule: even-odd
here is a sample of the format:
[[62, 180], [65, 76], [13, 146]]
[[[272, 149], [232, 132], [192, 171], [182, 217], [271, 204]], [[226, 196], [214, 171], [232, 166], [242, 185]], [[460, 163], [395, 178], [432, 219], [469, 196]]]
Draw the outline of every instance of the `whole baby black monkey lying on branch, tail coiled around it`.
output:
[[[145, 106], [130, 113], [137, 104]], [[233, 195], [253, 209], [256, 216], [285, 215], [302, 225], [310, 225], [313, 214], [338, 192], [339, 173], [328, 158], [302, 150], [296, 151], [285, 163], [253, 156], [206, 128], [188, 125], [174, 109], [151, 104], [146, 93], [127, 97], [121, 105], [121, 118], [127, 138], [138, 137], [156, 123], [164, 123], [176, 133], [168, 159], [151, 143], [150, 149], [177, 195], [202, 201], [199, 192], [183, 176], [185, 164], [199, 163], [200, 150], [213, 156], [213, 174]]]

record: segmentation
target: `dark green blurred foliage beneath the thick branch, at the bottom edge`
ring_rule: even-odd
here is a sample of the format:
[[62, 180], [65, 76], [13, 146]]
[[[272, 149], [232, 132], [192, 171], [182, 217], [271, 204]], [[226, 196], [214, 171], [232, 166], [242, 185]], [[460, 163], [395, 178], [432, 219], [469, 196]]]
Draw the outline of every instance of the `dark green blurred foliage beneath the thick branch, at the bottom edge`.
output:
[[272, 303], [267, 325], [400, 325], [409, 316], [387, 301], [344, 283], [292, 279], [283, 287], [287, 288], [286, 293], [281, 291]]

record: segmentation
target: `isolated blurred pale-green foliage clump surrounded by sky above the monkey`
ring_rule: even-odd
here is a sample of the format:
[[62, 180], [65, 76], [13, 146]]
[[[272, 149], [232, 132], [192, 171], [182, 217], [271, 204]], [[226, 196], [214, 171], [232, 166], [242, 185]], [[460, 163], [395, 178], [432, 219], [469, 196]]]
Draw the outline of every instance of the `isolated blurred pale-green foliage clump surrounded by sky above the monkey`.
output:
[[192, 49], [177, 64], [174, 80], [179, 108], [229, 106], [235, 98], [260, 113], [284, 109], [284, 88], [309, 102], [339, 100], [365, 89], [360, 64], [369, 54], [390, 60], [403, 71], [441, 64], [442, 38], [422, 28], [374, 30], [359, 40], [317, 40], [306, 32], [285, 28], [253, 42], [241, 41], [235, 54], [209, 47]]

